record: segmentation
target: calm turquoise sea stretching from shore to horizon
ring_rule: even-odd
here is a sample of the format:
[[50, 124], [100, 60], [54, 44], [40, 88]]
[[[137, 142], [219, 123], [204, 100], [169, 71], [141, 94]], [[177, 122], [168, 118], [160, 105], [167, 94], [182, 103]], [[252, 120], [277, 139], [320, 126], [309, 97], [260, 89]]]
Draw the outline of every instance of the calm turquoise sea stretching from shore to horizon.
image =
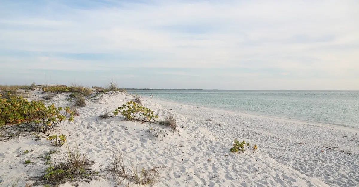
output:
[[210, 108], [359, 128], [359, 91], [130, 90]]

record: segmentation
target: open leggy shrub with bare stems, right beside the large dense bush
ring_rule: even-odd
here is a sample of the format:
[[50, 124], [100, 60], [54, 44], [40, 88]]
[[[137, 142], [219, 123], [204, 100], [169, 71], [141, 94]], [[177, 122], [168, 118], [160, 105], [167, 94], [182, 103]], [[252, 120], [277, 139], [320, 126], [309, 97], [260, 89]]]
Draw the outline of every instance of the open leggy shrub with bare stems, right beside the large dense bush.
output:
[[[65, 115], [62, 115], [60, 112], [62, 107], [56, 108], [54, 104], [48, 107], [42, 107], [36, 111], [38, 116], [41, 116], [41, 120], [33, 120], [33, 127], [37, 132], [42, 131], [46, 132], [54, 128], [57, 124], [61, 123], [66, 119]], [[74, 120], [74, 112], [70, 110], [70, 107], [65, 108], [66, 113], [69, 115], [67, 120]]]

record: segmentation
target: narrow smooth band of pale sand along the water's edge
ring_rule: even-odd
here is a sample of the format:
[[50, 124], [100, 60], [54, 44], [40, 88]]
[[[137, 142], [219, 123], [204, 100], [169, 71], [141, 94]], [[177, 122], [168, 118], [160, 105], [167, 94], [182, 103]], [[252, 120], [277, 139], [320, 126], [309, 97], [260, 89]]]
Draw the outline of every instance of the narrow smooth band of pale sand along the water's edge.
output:
[[[146, 97], [146, 96], [141, 96], [143, 98], [146, 99], [152, 99], [150, 97]], [[239, 114], [239, 115], [247, 115], [249, 117], [258, 117], [258, 118], [269, 118], [269, 119], [277, 119], [277, 120], [285, 120], [287, 122], [292, 122], [292, 123], [301, 123], [301, 124], [312, 124], [312, 125], [318, 125], [318, 126], [327, 126], [327, 127], [338, 127], [338, 128], [343, 128], [343, 129], [357, 129], [359, 132], [359, 126], [357, 127], [352, 127], [352, 126], [347, 126], [347, 125], [339, 125], [339, 124], [330, 124], [330, 123], [320, 123], [320, 122], [312, 122], [312, 121], [306, 121], [306, 120], [300, 120], [300, 119], [291, 119], [291, 118], [285, 118], [285, 117], [278, 117], [278, 116], [272, 116], [272, 115], [264, 115], [264, 114], [253, 114], [253, 113], [246, 113], [246, 112], [238, 112], [238, 111], [233, 111], [233, 110], [226, 110], [226, 109], [221, 109], [221, 108], [211, 108], [211, 107], [205, 107], [205, 106], [201, 106], [201, 105], [196, 105], [196, 104], [190, 104], [190, 103], [178, 103], [175, 101], [170, 101], [170, 100], [165, 100], [165, 99], [153, 99], [155, 101], [159, 101], [159, 102], [167, 102], [167, 103], [174, 103], [174, 104], [181, 104], [181, 105], [187, 105], [189, 107], [200, 107], [200, 108], [205, 108], [205, 109], [213, 109], [213, 110], [220, 110], [223, 112], [231, 112], [234, 114]]]

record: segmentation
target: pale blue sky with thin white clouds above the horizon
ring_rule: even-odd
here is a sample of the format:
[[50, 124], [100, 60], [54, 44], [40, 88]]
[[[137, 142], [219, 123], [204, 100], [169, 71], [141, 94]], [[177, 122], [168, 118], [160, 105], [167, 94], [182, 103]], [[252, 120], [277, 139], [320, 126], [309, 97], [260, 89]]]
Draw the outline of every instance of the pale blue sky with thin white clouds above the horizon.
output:
[[0, 85], [359, 90], [359, 1], [0, 0]]

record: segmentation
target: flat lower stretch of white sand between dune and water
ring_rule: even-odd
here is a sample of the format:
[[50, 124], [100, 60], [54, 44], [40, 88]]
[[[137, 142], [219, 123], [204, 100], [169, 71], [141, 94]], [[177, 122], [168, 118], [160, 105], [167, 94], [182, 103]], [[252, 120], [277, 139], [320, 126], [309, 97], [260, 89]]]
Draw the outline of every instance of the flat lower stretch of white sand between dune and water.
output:
[[[240, 141], [257, 144], [265, 159], [274, 159], [276, 164], [284, 164], [284, 167], [320, 179], [330, 186], [359, 184], [359, 181], [350, 179], [359, 176], [359, 140], [356, 138], [359, 136], [359, 129], [145, 99], [150, 103], [158, 103], [204, 128], [219, 142], [230, 143], [239, 138]], [[348, 168], [343, 170], [343, 166]], [[347, 171], [356, 172], [353, 176], [353, 173]], [[326, 178], [329, 174], [331, 177]]]

